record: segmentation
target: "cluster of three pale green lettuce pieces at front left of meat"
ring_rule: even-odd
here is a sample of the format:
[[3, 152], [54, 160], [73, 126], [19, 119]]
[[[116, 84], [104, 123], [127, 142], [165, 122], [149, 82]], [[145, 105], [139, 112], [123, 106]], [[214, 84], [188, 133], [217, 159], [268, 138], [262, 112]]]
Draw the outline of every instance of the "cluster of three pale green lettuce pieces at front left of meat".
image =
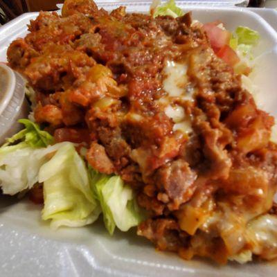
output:
[[0, 148], [0, 187], [15, 195], [44, 184], [43, 220], [51, 226], [84, 226], [103, 213], [109, 233], [127, 231], [143, 219], [129, 186], [118, 176], [103, 175], [86, 164], [73, 143], [53, 137], [30, 120]]

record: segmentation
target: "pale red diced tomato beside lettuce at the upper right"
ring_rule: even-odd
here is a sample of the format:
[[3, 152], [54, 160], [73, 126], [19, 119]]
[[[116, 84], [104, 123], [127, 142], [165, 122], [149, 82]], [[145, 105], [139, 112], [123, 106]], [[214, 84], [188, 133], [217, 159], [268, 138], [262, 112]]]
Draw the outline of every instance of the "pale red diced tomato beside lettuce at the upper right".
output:
[[215, 25], [215, 22], [204, 24], [204, 30], [210, 39], [213, 51], [217, 53], [224, 45], [229, 44], [231, 33]]

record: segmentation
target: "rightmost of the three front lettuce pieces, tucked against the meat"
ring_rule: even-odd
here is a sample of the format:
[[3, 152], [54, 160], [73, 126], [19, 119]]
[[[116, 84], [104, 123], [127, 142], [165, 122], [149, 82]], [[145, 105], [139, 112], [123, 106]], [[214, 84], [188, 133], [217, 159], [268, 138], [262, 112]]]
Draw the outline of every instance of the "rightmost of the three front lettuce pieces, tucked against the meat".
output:
[[102, 175], [91, 168], [90, 173], [107, 231], [112, 235], [116, 226], [120, 231], [137, 226], [144, 213], [137, 206], [132, 189], [119, 176]]

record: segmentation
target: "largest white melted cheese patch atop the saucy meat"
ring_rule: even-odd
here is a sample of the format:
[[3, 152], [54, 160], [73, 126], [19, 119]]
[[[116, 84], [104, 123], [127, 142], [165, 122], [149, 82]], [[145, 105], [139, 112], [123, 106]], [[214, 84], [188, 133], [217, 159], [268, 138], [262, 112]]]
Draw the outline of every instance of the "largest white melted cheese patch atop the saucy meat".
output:
[[188, 77], [186, 75], [188, 66], [177, 62], [168, 61], [163, 69], [166, 78], [163, 80], [163, 89], [168, 96], [178, 97], [186, 93]]

